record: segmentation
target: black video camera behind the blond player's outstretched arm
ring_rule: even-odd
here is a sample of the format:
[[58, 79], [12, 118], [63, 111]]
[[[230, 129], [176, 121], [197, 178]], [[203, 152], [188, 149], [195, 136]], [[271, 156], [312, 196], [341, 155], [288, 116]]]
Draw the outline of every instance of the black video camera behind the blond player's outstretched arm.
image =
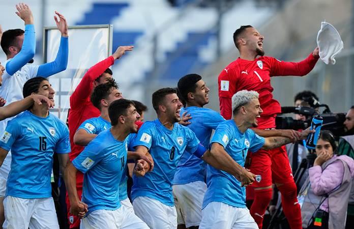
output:
[[[305, 121], [302, 120], [294, 120], [291, 117], [285, 116], [277, 116], [275, 123], [277, 129], [292, 129], [292, 130], [299, 130], [299, 129], [306, 129], [311, 126], [312, 118], [316, 115], [320, 115], [323, 118], [322, 128], [323, 130], [330, 130], [335, 136], [342, 136], [344, 135], [344, 125], [343, 122], [345, 121], [345, 113], [332, 113], [329, 106], [326, 104], [310, 104], [313, 107], [309, 106], [286, 106], [281, 108], [281, 113], [297, 113], [299, 115], [303, 115], [306, 117]], [[318, 112], [319, 107], [325, 107], [322, 113]]]

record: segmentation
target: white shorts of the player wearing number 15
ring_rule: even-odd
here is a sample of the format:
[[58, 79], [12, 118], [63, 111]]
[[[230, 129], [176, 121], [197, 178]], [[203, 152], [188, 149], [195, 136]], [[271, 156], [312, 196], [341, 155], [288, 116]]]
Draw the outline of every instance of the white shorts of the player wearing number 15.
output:
[[59, 229], [52, 197], [23, 199], [6, 196], [4, 209], [5, 222], [3, 228]]

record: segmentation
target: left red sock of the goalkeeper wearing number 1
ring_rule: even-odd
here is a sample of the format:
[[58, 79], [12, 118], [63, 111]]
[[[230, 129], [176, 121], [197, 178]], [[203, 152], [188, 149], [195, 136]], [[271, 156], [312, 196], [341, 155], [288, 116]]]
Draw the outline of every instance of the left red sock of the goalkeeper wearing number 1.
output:
[[251, 216], [259, 229], [262, 228], [265, 210], [272, 200], [272, 189], [254, 190], [254, 201], [250, 209]]

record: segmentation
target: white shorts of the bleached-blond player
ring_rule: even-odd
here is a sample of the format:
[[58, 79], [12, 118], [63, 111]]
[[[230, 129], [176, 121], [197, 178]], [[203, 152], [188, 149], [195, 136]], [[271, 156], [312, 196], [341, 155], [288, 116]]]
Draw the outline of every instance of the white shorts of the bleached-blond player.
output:
[[247, 208], [236, 208], [230, 205], [211, 202], [202, 210], [199, 229], [258, 229]]

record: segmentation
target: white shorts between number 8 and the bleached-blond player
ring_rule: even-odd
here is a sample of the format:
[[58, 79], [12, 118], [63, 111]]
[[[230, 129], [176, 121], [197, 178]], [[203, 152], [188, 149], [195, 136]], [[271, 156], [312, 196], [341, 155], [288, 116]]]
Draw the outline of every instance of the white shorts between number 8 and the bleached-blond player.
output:
[[183, 185], [173, 185], [174, 206], [177, 211], [177, 223], [186, 227], [199, 226], [201, 206], [203, 204], [206, 184], [195, 181]]

